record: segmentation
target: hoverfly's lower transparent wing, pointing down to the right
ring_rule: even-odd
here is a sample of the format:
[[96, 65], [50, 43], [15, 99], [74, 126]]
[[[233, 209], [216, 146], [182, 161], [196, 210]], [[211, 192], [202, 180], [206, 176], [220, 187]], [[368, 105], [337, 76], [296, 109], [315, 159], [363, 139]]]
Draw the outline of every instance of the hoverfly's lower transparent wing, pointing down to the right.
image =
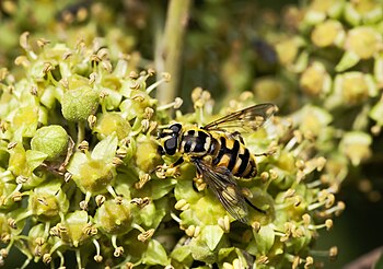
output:
[[212, 167], [202, 160], [194, 160], [197, 171], [214, 192], [224, 209], [236, 220], [247, 222], [247, 207], [244, 196], [236, 185], [233, 175], [227, 167]]

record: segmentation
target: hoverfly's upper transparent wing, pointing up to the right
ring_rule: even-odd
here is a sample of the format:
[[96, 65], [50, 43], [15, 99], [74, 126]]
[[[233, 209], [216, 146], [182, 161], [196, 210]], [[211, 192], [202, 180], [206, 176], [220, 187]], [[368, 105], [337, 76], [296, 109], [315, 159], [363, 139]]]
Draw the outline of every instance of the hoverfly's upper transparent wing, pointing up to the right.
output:
[[271, 117], [278, 107], [270, 103], [259, 104], [229, 114], [204, 127], [205, 130], [225, 130], [229, 128], [243, 128], [257, 130]]

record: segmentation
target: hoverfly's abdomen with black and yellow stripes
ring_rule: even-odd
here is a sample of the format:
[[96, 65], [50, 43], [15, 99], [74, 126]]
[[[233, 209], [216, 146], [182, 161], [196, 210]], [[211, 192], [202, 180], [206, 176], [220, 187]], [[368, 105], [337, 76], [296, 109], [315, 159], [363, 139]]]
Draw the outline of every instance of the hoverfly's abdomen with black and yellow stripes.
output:
[[236, 177], [256, 176], [254, 155], [239, 140], [222, 132], [211, 132], [209, 154], [213, 166], [224, 166]]

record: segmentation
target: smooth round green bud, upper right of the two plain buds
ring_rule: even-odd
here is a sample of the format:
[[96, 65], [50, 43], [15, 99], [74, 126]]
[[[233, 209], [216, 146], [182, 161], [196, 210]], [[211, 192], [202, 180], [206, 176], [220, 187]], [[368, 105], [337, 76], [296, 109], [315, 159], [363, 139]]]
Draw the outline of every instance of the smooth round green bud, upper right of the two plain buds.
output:
[[90, 86], [68, 90], [61, 100], [62, 116], [69, 121], [85, 121], [98, 106], [98, 92]]

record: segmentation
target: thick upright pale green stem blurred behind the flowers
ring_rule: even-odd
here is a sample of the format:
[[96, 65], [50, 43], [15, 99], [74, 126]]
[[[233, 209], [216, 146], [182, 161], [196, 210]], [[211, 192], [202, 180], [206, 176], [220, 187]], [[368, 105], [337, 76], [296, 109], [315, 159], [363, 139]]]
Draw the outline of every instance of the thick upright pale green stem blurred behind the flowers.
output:
[[160, 38], [155, 48], [158, 80], [161, 79], [162, 72], [169, 72], [172, 75], [171, 81], [160, 85], [156, 92], [160, 104], [171, 103], [176, 97], [190, 2], [192, 0], [171, 0], [167, 7], [164, 33], [156, 36], [156, 38]]

